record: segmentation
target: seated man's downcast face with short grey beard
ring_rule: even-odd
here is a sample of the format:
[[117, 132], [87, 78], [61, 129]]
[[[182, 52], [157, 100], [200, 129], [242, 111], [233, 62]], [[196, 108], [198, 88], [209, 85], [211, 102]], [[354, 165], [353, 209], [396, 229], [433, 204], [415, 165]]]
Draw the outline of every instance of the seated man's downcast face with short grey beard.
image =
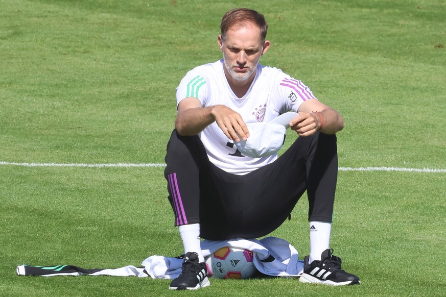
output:
[[226, 73], [237, 81], [245, 81], [255, 73], [260, 57], [270, 44], [269, 41], [262, 42], [260, 29], [252, 23], [229, 29], [224, 40], [219, 36], [218, 43]]

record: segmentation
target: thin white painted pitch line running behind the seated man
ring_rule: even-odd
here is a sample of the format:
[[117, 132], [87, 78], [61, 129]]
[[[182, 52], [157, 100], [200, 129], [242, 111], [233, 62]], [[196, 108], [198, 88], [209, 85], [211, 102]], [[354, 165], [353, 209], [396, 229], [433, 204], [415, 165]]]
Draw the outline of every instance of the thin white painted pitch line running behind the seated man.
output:
[[[164, 163], [114, 163], [114, 164], [82, 164], [82, 163], [15, 163], [0, 161], [0, 165], [25, 167], [166, 167]], [[446, 173], [446, 169], [431, 168], [399, 168], [399, 167], [339, 167], [340, 171], [406, 171]]]

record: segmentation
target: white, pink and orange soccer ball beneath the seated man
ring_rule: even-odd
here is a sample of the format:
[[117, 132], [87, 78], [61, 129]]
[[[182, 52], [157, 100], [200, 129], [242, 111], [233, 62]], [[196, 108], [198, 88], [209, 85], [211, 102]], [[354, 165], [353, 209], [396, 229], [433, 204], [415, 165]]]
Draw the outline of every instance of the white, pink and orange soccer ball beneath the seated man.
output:
[[225, 246], [205, 259], [208, 276], [219, 279], [250, 278], [257, 271], [252, 258], [251, 251]]

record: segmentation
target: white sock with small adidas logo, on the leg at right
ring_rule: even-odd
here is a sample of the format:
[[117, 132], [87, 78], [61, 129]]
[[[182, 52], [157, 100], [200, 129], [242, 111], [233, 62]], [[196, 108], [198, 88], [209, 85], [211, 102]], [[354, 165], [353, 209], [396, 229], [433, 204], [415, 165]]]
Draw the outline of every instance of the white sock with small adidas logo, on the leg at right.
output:
[[330, 249], [330, 234], [332, 223], [327, 221], [310, 222], [310, 260], [321, 260], [321, 254]]

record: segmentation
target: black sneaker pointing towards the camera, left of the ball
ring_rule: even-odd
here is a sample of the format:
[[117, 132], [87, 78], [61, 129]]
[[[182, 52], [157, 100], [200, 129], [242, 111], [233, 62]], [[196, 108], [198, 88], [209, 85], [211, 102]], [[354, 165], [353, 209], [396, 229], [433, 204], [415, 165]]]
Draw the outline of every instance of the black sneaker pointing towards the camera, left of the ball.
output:
[[170, 283], [171, 290], [196, 290], [210, 286], [207, 278], [207, 269], [204, 262], [198, 262], [197, 253], [186, 253], [184, 255], [181, 274]]

